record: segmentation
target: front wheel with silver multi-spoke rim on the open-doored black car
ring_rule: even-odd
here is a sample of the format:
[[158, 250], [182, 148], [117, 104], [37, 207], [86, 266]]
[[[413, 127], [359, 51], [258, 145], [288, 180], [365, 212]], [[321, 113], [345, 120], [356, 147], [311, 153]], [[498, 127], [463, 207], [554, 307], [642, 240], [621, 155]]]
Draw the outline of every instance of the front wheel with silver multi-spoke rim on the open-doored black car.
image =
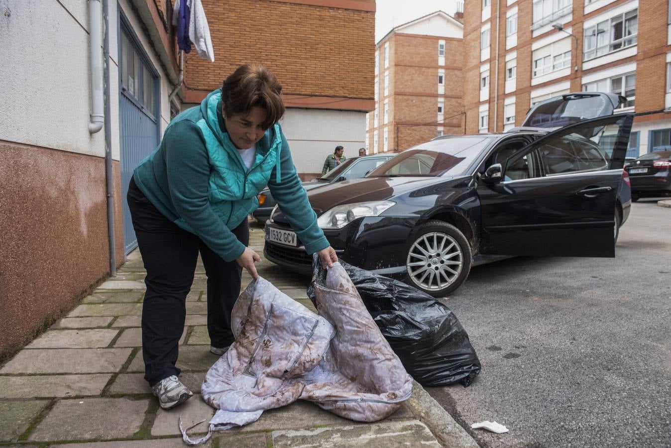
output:
[[429, 221], [419, 227], [405, 266], [409, 284], [441, 297], [459, 288], [470, 272], [471, 250], [454, 225]]

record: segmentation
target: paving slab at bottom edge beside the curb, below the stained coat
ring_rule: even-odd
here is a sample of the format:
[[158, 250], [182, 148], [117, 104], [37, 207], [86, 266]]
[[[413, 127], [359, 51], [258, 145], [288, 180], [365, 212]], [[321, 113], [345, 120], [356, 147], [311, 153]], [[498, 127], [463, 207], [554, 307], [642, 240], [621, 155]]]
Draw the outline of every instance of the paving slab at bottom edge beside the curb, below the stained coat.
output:
[[418, 420], [370, 423], [303, 430], [272, 431], [272, 445], [281, 447], [440, 447]]

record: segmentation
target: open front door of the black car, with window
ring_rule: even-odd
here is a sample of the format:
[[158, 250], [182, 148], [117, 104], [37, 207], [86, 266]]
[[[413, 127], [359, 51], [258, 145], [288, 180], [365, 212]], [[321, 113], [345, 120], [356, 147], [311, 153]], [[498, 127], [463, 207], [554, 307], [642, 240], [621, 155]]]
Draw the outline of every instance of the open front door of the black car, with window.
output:
[[[479, 182], [481, 254], [615, 256], [615, 201], [633, 114], [562, 127]], [[491, 167], [492, 168], [492, 167]]]

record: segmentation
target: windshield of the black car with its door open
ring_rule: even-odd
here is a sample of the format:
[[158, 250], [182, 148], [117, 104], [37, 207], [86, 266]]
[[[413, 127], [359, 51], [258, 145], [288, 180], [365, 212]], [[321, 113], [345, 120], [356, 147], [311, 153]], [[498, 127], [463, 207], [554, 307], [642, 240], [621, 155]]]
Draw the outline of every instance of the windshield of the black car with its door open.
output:
[[460, 176], [495, 137], [435, 139], [401, 152], [366, 177]]

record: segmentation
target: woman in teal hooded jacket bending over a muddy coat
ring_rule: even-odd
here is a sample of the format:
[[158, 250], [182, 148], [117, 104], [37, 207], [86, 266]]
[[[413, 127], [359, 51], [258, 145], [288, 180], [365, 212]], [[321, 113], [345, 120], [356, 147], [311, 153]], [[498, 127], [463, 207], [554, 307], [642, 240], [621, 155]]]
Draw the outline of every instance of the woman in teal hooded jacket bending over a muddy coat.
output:
[[156, 150], [140, 162], [128, 205], [147, 271], [142, 308], [144, 378], [162, 408], [191, 395], [176, 368], [185, 300], [198, 253], [207, 274], [207, 330], [213, 353], [234, 341], [231, 310], [242, 268], [257, 278], [260, 257], [249, 247], [247, 216], [268, 184], [310, 253], [338, 261], [311, 209], [278, 124], [282, 87], [261, 64], [240, 66], [168, 125]]

